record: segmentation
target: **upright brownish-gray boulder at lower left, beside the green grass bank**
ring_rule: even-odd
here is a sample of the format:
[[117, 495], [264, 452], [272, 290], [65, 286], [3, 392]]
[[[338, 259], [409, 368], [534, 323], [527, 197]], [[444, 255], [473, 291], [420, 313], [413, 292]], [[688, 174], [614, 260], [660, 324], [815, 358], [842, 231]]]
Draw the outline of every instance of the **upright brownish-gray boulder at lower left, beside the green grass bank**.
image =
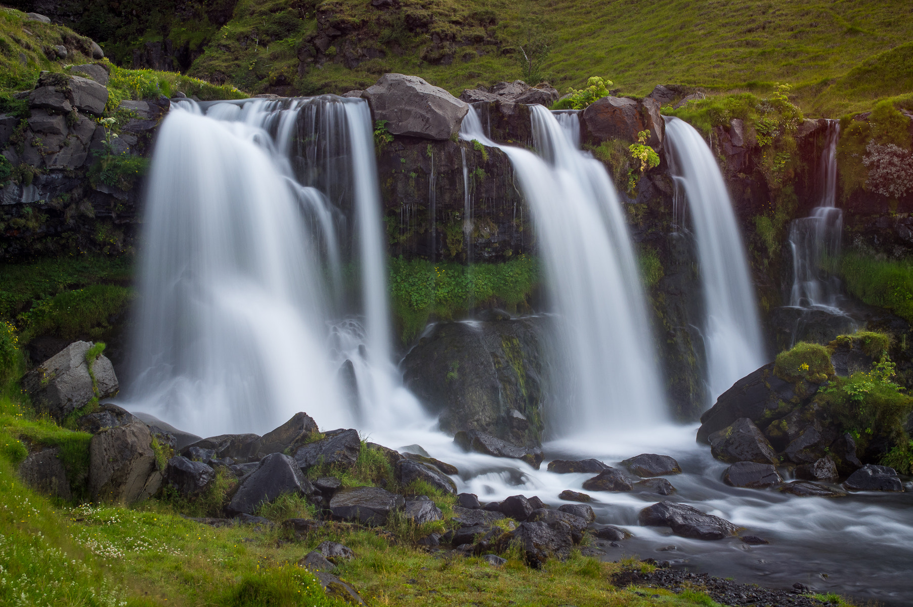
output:
[[89, 442], [89, 495], [94, 502], [131, 504], [162, 485], [152, 434], [142, 422], [102, 430]]

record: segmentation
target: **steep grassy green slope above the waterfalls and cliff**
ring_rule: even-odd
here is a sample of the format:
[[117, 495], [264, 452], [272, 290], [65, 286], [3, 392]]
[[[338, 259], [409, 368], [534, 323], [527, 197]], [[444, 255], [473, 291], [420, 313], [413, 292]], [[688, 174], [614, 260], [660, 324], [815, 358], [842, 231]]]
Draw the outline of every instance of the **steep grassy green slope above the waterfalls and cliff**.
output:
[[541, 75], [561, 90], [592, 75], [630, 95], [790, 82], [806, 113], [836, 116], [913, 88], [907, 0], [65, 0], [57, 11], [121, 65], [134, 50], [141, 62], [171, 53], [167, 65], [252, 93], [341, 93], [401, 71], [458, 94], [521, 78], [521, 48], [543, 42]]

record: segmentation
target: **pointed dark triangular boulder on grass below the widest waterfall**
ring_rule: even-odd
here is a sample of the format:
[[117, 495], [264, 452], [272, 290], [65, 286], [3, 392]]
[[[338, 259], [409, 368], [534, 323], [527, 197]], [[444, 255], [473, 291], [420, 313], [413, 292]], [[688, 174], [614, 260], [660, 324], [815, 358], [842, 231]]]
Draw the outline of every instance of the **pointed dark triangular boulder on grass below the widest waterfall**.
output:
[[226, 510], [233, 514], [252, 514], [283, 493], [310, 496], [314, 487], [289, 455], [273, 453], [260, 460], [257, 469], [247, 475]]

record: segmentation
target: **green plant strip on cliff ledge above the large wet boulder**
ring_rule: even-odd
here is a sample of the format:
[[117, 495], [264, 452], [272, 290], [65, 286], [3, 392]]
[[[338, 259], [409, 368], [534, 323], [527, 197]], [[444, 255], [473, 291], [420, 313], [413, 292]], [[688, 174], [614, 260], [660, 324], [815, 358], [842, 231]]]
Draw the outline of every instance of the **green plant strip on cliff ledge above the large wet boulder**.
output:
[[453, 319], [474, 306], [488, 304], [516, 310], [538, 283], [537, 260], [526, 255], [500, 264], [472, 266], [402, 257], [390, 260], [393, 309], [404, 341], [414, 338], [432, 314]]

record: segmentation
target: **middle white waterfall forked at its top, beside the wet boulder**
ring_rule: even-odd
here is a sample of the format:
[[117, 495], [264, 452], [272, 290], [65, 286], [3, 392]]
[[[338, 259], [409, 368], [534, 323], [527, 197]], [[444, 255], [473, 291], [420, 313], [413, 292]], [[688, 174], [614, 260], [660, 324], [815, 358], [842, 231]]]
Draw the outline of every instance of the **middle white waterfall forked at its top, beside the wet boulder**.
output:
[[581, 152], [551, 111], [530, 107], [540, 155], [490, 141], [470, 108], [460, 137], [504, 151], [539, 235], [566, 389], [551, 434], [647, 428], [666, 418], [646, 302], [624, 212], [603, 165]]

